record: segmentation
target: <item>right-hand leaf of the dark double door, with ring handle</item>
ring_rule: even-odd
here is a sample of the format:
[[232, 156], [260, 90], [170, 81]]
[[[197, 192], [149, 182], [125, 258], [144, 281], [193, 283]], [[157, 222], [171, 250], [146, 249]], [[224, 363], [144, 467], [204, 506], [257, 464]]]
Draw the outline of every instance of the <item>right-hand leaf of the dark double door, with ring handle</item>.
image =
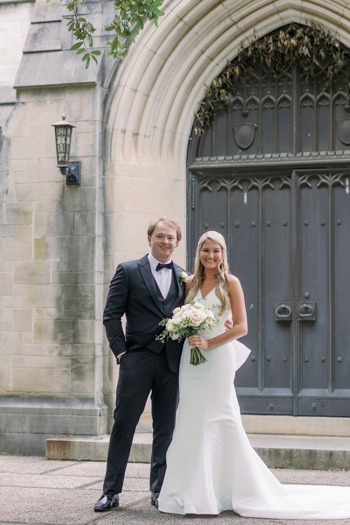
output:
[[298, 414], [350, 414], [349, 176], [294, 173]]

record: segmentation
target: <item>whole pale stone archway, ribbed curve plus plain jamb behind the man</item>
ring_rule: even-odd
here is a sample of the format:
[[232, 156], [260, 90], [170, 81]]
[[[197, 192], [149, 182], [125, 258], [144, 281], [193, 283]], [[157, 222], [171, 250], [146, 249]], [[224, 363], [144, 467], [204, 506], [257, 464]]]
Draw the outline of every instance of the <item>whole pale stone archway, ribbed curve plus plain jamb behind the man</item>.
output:
[[[104, 130], [105, 293], [116, 265], [146, 251], [154, 215], [186, 229], [186, 155], [205, 85], [236, 56], [242, 42], [312, 18], [350, 44], [350, 10], [336, 0], [237, 3], [169, 0], [109, 81]], [[137, 235], [135, 236], [135, 230]], [[143, 240], [144, 239], [144, 240]], [[143, 244], [142, 244], [143, 243]], [[185, 266], [186, 241], [177, 252]], [[107, 370], [107, 363], [104, 369]], [[109, 386], [107, 386], [109, 383]], [[111, 382], [105, 382], [113, 391]]]

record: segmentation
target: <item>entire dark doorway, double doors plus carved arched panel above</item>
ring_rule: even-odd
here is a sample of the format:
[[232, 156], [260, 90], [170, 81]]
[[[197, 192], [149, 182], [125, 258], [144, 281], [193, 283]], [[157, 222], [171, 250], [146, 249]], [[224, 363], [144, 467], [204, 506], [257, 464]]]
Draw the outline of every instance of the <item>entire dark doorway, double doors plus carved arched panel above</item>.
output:
[[[244, 413], [350, 416], [350, 55], [278, 79], [252, 62], [188, 148], [188, 266], [208, 229], [227, 241], [252, 353]], [[322, 62], [322, 63], [321, 63]]]

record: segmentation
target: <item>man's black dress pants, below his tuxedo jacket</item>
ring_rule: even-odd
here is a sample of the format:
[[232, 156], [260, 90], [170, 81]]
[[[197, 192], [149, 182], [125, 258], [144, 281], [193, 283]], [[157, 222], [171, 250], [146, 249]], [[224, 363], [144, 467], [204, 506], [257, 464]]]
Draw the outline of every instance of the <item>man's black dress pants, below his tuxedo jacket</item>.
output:
[[169, 369], [165, 346], [160, 354], [144, 347], [120, 359], [114, 425], [111, 433], [103, 491], [122, 491], [135, 428], [151, 394], [153, 445], [150, 490], [160, 492], [166, 469], [166, 451], [173, 438], [178, 406], [178, 374]]

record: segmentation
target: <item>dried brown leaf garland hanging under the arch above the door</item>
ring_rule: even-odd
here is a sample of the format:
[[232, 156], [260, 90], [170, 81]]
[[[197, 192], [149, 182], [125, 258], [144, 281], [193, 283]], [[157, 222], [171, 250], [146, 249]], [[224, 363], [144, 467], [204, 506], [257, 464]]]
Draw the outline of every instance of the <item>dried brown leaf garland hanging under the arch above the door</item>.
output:
[[329, 29], [313, 20], [306, 20], [306, 24], [290, 24], [287, 29], [261, 39], [256, 34], [248, 47], [241, 47], [238, 56], [206, 87], [205, 97], [195, 113], [195, 134], [204, 133], [217, 110], [230, 103], [237, 92], [237, 81], [252, 71], [256, 63], [266, 67], [275, 80], [284, 70], [300, 64], [306, 80], [311, 80], [322, 62], [323, 66], [326, 64], [325, 88], [329, 87], [343, 65], [344, 49], [338, 36]]

